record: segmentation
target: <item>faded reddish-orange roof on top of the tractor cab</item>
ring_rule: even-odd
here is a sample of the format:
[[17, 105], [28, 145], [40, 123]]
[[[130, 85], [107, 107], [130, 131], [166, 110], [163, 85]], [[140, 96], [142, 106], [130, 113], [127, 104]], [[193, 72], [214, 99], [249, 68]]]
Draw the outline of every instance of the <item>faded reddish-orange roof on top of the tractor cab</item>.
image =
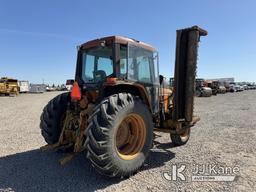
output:
[[103, 38], [99, 38], [99, 39], [94, 39], [94, 40], [91, 40], [91, 41], [88, 41], [88, 42], [82, 44], [81, 48], [86, 49], [86, 48], [95, 47], [102, 42], [106, 42], [107, 44], [115, 42], [115, 43], [120, 43], [120, 44], [124, 44], [124, 45], [127, 45], [129, 43], [129, 44], [136, 45], [138, 47], [142, 47], [149, 51], [156, 51], [156, 49], [149, 44], [143, 43], [141, 41], [137, 41], [132, 38], [122, 37], [122, 36], [108, 36], [108, 37], [103, 37]]

